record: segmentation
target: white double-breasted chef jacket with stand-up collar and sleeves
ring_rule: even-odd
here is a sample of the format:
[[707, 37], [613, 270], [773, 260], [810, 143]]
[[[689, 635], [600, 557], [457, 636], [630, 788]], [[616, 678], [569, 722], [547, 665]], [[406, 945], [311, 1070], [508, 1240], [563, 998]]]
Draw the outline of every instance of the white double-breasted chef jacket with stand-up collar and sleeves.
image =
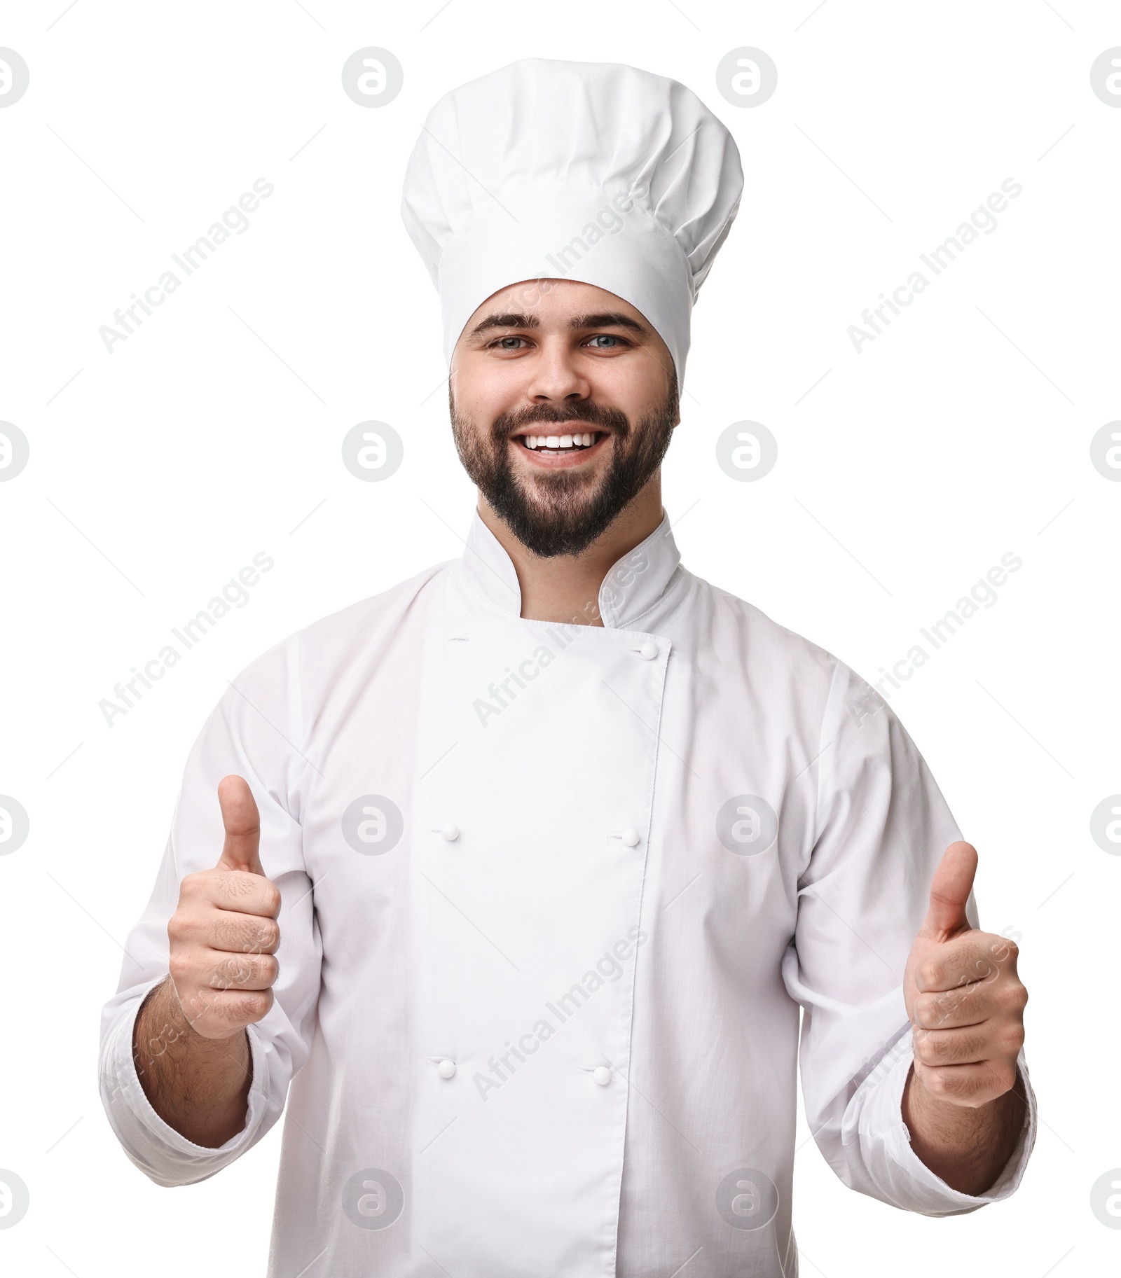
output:
[[[465, 546], [280, 643], [203, 727], [104, 1016], [129, 1158], [203, 1180], [286, 1103], [274, 1278], [789, 1278], [800, 1030], [846, 1185], [928, 1215], [1011, 1194], [1030, 1088], [977, 1197], [901, 1118], [904, 965], [960, 835], [883, 700], [683, 569], [666, 519], [607, 574], [602, 627], [523, 619], [478, 516]], [[132, 1035], [228, 773], [261, 810], [280, 974], [244, 1130], [205, 1149]]]

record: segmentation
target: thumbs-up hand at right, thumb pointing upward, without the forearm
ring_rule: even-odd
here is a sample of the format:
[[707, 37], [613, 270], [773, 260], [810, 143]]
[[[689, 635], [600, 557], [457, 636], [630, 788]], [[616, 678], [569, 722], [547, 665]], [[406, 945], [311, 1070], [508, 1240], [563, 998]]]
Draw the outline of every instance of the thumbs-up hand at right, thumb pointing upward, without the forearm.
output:
[[973, 1109], [1015, 1085], [1028, 1002], [1015, 944], [975, 930], [965, 916], [975, 873], [977, 850], [951, 843], [904, 975], [915, 1081], [938, 1100]]

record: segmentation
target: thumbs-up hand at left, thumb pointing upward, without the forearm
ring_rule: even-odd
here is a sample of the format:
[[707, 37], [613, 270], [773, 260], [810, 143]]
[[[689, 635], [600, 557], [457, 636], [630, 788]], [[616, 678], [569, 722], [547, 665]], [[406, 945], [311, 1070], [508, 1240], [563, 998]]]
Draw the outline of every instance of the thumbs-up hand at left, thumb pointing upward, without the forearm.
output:
[[169, 973], [190, 1026], [230, 1038], [272, 1006], [280, 891], [261, 866], [261, 817], [242, 777], [219, 782], [225, 843], [212, 870], [188, 874], [167, 923]]

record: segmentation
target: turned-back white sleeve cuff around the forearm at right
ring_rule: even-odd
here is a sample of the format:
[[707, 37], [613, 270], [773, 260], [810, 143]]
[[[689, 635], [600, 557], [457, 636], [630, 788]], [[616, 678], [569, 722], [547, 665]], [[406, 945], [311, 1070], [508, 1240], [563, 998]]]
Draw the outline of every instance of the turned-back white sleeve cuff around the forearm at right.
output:
[[911, 1149], [910, 1132], [902, 1120], [902, 1094], [913, 1061], [914, 1054], [908, 1035], [906, 1051], [900, 1053], [887, 1077], [882, 1079], [874, 1094], [869, 1097], [860, 1122], [862, 1140], [874, 1140], [879, 1135], [883, 1141], [888, 1162], [886, 1169], [891, 1181], [883, 1189], [887, 1190], [888, 1197], [906, 1210], [927, 1215], [959, 1215], [1009, 1197], [1024, 1177], [1038, 1126], [1035, 1093], [1032, 1090], [1024, 1052], [1021, 1051], [1016, 1059], [1016, 1068], [1028, 1098], [1020, 1139], [993, 1186], [978, 1195], [961, 1194], [951, 1189]]

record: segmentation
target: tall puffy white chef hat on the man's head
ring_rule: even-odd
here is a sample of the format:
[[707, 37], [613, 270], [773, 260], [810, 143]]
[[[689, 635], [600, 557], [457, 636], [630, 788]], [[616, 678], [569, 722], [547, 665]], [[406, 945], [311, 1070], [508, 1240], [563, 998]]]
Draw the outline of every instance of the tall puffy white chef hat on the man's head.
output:
[[674, 358], [743, 190], [729, 130], [676, 81], [616, 63], [527, 58], [432, 109], [401, 216], [440, 290], [444, 353], [493, 293], [593, 284], [635, 307]]

